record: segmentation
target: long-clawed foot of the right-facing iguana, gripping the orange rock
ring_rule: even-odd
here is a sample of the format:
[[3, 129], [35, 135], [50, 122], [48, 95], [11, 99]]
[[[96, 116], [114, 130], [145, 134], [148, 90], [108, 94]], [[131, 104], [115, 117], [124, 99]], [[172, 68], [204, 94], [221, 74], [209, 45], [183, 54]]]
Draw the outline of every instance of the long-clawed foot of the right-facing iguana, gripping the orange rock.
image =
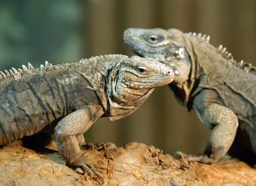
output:
[[106, 169], [107, 174], [109, 173], [109, 169], [107, 166], [93, 163], [90, 158], [85, 157], [84, 154], [79, 159], [74, 161], [71, 165], [81, 167], [81, 169], [88, 173], [88, 175], [90, 176], [90, 180], [93, 178], [94, 173], [98, 178], [102, 180], [102, 183], [100, 185], [104, 183], [104, 176], [97, 169]]

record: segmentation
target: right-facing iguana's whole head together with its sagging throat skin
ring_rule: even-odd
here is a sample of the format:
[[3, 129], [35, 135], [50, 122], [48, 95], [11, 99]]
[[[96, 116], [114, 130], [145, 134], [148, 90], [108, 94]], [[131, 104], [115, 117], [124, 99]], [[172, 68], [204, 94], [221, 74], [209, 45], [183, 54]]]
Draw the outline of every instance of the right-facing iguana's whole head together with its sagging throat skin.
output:
[[133, 113], [153, 92], [174, 79], [172, 68], [152, 58], [122, 56], [114, 64], [108, 80], [110, 107], [106, 116], [114, 121]]

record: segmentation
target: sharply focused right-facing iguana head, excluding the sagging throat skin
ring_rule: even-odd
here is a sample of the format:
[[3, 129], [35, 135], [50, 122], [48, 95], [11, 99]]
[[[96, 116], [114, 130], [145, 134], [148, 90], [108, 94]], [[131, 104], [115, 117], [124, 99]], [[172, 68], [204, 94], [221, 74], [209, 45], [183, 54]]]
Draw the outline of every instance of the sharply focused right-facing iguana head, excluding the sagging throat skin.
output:
[[119, 99], [144, 96], [148, 90], [167, 85], [174, 79], [174, 71], [152, 58], [132, 56], [120, 63], [116, 94]]

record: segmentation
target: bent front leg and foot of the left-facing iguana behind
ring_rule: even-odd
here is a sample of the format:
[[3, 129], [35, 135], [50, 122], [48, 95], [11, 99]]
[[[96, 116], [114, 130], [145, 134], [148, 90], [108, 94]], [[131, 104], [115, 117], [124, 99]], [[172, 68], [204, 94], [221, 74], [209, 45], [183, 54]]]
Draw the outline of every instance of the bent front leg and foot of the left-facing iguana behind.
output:
[[197, 110], [197, 114], [207, 127], [212, 128], [204, 154], [186, 155], [182, 152], [176, 152], [175, 157], [183, 155], [189, 161], [216, 162], [230, 149], [239, 125], [238, 118], [229, 108], [215, 103], [208, 105], [203, 111]]

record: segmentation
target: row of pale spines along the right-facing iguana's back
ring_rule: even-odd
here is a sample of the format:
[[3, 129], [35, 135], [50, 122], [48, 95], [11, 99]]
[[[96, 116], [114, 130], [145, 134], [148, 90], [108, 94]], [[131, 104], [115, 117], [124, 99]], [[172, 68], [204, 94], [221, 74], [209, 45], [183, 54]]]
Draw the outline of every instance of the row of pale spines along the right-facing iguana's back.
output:
[[[52, 63], [48, 63], [47, 61], [45, 62], [45, 66], [46, 67], [51, 67], [52, 66]], [[40, 65], [40, 68], [43, 68], [44, 65]], [[4, 79], [6, 77], [9, 77], [9, 76], [14, 76], [16, 74], [19, 74], [19, 73], [23, 73], [23, 72], [26, 72], [26, 71], [29, 71], [29, 70], [32, 70], [34, 69], [34, 67], [28, 63], [28, 67], [26, 67], [25, 65], [22, 65], [22, 69], [21, 70], [20, 68], [18, 68], [18, 70], [16, 70], [15, 68], [12, 67], [12, 69], [10, 69], [9, 71], [8, 70], [4, 70], [5, 73], [3, 73], [2, 71], [0, 71], [0, 79]]]

